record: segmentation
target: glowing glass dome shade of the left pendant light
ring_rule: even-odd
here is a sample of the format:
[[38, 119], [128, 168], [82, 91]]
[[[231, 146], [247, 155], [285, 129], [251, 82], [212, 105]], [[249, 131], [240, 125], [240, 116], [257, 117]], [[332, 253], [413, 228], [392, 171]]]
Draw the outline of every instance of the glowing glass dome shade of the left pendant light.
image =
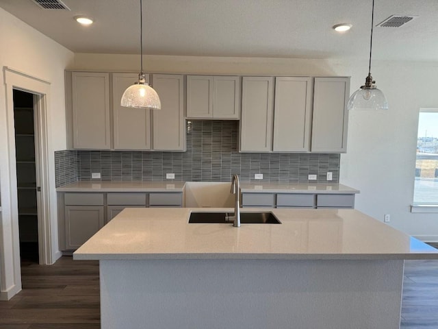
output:
[[138, 75], [138, 82], [125, 90], [120, 105], [126, 108], [149, 108], [150, 110], [162, 108], [157, 92], [145, 82], [144, 73]]

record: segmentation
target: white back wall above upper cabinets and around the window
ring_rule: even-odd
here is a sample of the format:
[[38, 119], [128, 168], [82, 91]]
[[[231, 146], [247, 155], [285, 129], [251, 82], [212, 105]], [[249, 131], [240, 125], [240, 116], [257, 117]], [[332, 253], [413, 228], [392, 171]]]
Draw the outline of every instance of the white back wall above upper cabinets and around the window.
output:
[[[377, 51], [377, 50], [375, 50]], [[70, 69], [138, 71], [138, 55], [77, 53]], [[145, 69], [163, 73], [347, 75], [351, 93], [365, 82], [368, 59], [209, 58], [145, 56]], [[372, 75], [389, 102], [387, 112], [350, 112], [348, 151], [341, 157], [342, 183], [358, 188], [356, 208], [391, 226], [438, 241], [438, 214], [413, 214], [418, 110], [438, 107], [438, 62], [372, 63]]]

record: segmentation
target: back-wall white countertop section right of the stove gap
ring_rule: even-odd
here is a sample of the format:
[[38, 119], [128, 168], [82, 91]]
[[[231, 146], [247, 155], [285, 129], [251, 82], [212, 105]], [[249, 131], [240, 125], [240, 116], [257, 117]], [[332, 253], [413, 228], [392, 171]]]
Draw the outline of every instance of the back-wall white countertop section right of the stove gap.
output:
[[324, 193], [356, 194], [359, 190], [343, 184], [326, 183], [240, 183], [242, 193]]

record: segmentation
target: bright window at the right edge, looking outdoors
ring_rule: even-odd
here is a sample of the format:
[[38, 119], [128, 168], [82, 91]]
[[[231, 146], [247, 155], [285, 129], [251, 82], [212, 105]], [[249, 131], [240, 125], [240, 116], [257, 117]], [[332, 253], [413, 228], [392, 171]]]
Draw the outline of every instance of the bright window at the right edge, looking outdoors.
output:
[[438, 206], [438, 108], [420, 109], [413, 202]]

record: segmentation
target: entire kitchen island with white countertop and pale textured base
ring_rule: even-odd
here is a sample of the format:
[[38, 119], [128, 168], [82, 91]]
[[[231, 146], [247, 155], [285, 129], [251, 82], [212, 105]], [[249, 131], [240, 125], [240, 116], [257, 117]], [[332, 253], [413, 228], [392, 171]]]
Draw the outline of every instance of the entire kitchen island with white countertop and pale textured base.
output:
[[399, 328], [404, 259], [438, 259], [357, 210], [192, 210], [127, 208], [75, 252], [99, 260], [102, 328]]

